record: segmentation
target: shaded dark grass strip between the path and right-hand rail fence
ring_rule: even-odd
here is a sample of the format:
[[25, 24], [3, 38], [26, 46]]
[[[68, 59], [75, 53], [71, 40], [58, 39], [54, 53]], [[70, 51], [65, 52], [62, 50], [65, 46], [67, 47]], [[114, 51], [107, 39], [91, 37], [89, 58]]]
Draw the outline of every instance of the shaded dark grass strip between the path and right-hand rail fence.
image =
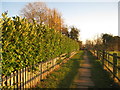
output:
[[118, 88], [110, 73], [102, 68], [100, 60], [97, 60], [91, 52], [88, 52], [88, 58], [92, 64], [91, 74], [95, 88]]

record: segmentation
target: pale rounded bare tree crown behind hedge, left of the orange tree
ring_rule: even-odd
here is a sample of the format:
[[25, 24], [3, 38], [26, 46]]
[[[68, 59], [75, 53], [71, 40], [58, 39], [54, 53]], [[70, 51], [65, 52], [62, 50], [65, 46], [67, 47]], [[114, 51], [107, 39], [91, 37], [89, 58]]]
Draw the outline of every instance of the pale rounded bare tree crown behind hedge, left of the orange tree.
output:
[[22, 10], [21, 15], [30, 22], [36, 20], [38, 23], [45, 23], [47, 20], [48, 7], [43, 2], [28, 3]]

